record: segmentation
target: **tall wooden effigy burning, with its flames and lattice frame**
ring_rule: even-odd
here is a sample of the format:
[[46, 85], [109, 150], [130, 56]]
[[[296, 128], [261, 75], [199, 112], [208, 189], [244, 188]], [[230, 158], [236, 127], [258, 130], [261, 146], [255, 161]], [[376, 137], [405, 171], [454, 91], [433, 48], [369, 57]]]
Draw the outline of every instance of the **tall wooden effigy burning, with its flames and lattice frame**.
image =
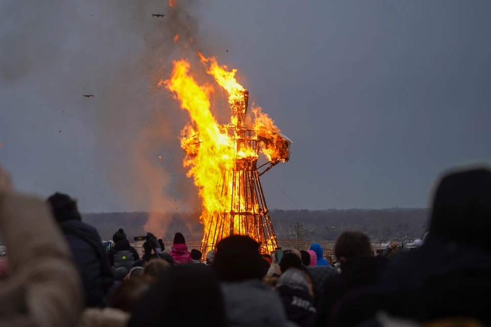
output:
[[[206, 254], [222, 238], [234, 234], [260, 242], [263, 253], [272, 251], [277, 240], [259, 176], [278, 162], [288, 161], [292, 142], [260, 108], [253, 109], [254, 124], [245, 124], [249, 92], [235, 79], [236, 70], [219, 66], [213, 57], [199, 56], [208, 74], [229, 94], [229, 124], [216, 122], [209, 100], [213, 87], [196, 83], [187, 60], [174, 61], [171, 77], [164, 83], [191, 117], [181, 131], [181, 147], [187, 153], [187, 176], [193, 177], [203, 203], [202, 252]], [[261, 146], [268, 161], [258, 167]], [[262, 167], [266, 168], [259, 172]]]

